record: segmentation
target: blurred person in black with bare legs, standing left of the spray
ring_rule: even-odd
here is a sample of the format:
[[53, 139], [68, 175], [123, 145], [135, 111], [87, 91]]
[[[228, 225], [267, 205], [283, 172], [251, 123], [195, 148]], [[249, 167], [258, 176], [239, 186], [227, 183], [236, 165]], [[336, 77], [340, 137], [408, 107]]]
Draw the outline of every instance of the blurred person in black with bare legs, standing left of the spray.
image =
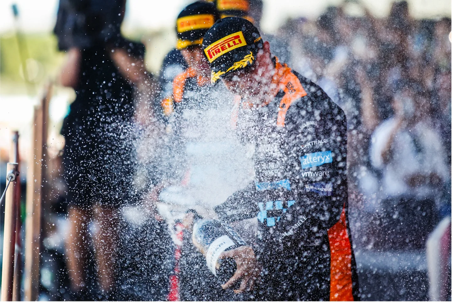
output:
[[[62, 0], [54, 30], [60, 49], [67, 51], [61, 85], [76, 93], [61, 128], [69, 208], [66, 256], [75, 299], [112, 298], [118, 207], [132, 198], [131, 131], [134, 123], [146, 123], [147, 118], [135, 109], [154, 93], [144, 67], [144, 45], [121, 35], [124, 10], [125, 0]], [[91, 218], [96, 222], [99, 281], [94, 294], [88, 293], [92, 288], [86, 280]]]

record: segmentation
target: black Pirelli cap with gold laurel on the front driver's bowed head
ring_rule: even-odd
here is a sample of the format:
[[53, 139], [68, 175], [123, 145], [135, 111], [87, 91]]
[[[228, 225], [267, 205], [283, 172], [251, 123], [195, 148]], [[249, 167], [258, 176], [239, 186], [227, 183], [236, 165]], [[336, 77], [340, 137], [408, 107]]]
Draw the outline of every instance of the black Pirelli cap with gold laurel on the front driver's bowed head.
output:
[[259, 48], [262, 48], [262, 38], [250, 21], [237, 17], [218, 20], [202, 41], [212, 70], [212, 83], [228, 73], [253, 65]]

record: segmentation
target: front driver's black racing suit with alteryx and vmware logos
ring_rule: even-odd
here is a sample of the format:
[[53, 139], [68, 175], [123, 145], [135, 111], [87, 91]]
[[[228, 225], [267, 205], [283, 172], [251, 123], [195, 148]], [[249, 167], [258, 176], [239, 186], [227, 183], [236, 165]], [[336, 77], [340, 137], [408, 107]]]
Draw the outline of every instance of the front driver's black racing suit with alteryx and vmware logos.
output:
[[356, 300], [344, 111], [319, 86], [274, 64], [273, 100], [257, 108], [241, 102], [234, 118], [237, 134], [254, 145], [255, 181], [216, 211], [225, 221], [258, 219], [257, 300]]

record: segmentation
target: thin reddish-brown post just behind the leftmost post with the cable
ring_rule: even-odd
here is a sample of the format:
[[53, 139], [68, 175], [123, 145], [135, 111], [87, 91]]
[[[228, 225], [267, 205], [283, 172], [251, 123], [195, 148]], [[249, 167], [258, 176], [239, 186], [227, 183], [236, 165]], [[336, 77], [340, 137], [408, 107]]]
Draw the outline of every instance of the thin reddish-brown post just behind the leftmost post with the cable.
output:
[[[19, 159], [19, 131], [13, 131], [11, 148], [9, 149], [9, 162], [18, 163], [17, 169], [20, 171], [20, 159]], [[13, 301], [20, 301], [20, 282], [22, 280], [22, 219], [21, 219], [21, 202], [22, 197], [20, 188], [20, 177], [17, 177], [17, 200], [16, 200], [16, 244], [14, 248], [14, 279], [13, 279]]]

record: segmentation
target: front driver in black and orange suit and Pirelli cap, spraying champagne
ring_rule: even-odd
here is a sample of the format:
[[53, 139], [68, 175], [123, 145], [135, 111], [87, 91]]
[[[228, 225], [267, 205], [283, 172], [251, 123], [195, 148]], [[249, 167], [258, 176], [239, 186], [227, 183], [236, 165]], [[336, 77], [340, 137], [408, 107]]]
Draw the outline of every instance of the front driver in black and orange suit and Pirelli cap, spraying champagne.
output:
[[[241, 96], [231, 122], [243, 143], [254, 146], [254, 181], [225, 203], [246, 204], [248, 216], [257, 217], [258, 238], [222, 253], [237, 263], [222, 287], [256, 300], [357, 300], [344, 111], [319, 86], [278, 62], [245, 19], [218, 20], [202, 49], [212, 82], [221, 80]], [[216, 211], [233, 221], [231, 207]]]

